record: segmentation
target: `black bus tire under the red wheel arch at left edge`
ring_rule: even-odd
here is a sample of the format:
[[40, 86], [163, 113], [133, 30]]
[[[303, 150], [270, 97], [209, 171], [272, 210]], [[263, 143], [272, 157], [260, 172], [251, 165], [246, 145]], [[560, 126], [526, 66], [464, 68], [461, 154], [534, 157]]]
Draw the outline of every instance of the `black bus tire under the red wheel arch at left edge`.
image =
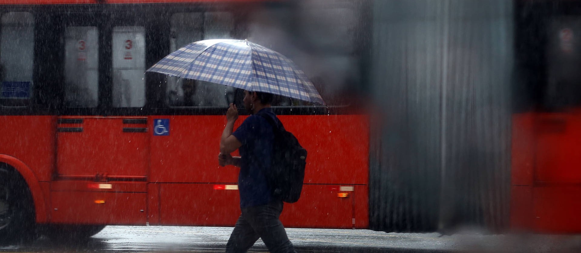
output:
[[0, 244], [26, 243], [36, 237], [33, 196], [24, 178], [0, 164]]

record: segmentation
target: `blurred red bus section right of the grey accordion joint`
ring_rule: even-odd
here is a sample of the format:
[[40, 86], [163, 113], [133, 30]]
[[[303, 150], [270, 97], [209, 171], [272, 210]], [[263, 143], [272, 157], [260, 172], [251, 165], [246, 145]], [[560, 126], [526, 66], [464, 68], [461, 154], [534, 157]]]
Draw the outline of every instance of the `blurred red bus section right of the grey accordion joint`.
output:
[[581, 2], [518, 1], [511, 227], [581, 232]]

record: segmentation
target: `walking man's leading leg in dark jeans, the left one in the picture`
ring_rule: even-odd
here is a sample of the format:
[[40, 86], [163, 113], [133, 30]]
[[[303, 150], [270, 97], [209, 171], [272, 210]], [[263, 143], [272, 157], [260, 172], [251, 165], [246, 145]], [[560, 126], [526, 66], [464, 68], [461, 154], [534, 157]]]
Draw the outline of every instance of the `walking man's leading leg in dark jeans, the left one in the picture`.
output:
[[241, 214], [226, 244], [226, 253], [246, 253], [259, 237]]

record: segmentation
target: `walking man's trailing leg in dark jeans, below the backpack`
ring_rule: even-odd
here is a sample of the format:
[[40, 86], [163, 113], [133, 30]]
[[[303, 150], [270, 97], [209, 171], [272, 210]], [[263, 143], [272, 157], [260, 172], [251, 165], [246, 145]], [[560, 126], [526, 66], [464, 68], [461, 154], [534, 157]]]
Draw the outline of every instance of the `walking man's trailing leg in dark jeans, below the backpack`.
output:
[[282, 201], [275, 201], [265, 206], [250, 207], [245, 217], [271, 253], [295, 252], [295, 247], [286, 236], [285, 227], [278, 219], [282, 212]]

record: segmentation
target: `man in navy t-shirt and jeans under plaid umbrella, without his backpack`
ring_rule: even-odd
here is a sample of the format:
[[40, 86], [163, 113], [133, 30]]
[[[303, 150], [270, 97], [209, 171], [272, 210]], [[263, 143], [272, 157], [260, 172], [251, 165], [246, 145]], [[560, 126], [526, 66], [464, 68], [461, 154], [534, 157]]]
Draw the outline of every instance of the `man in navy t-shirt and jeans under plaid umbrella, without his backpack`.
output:
[[[230, 104], [218, 155], [220, 166], [240, 167], [238, 190], [242, 214], [226, 244], [226, 252], [246, 252], [259, 238], [272, 253], [295, 252], [278, 219], [282, 212], [282, 200], [272, 196], [264, 173], [271, 170], [274, 131], [263, 116], [279, 122], [270, 108], [273, 96], [247, 90], [244, 94], [244, 107], [250, 116], [232, 133], [238, 119], [238, 109]], [[230, 153], [238, 148], [241, 156], [232, 157]]]

